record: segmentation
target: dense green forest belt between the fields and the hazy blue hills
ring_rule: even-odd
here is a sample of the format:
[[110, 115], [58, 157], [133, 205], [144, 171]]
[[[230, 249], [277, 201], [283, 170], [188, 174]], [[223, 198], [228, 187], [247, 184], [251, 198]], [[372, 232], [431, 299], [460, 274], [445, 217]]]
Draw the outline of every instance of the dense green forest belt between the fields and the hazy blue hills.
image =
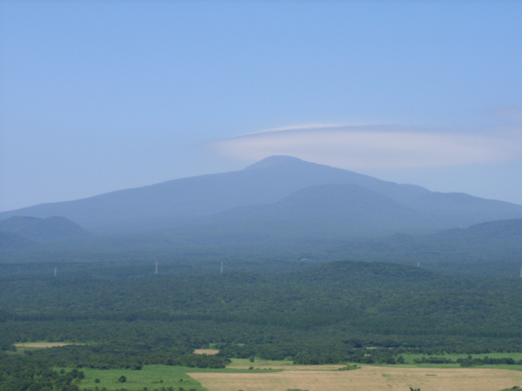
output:
[[[54, 277], [17, 267], [1, 279], [2, 349], [35, 340], [86, 344], [30, 355], [53, 365], [219, 368], [227, 357], [251, 356], [392, 363], [407, 351], [522, 351], [519, 279], [351, 261], [280, 274], [141, 277], [117, 268], [82, 276], [78, 266]], [[220, 355], [192, 354], [208, 346]]]

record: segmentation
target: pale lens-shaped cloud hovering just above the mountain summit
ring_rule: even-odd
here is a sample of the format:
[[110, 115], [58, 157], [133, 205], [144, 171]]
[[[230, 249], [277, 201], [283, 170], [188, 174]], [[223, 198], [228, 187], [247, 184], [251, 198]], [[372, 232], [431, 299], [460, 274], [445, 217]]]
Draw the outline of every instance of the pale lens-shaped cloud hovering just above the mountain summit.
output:
[[428, 168], [509, 159], [519, 142], [387, 125], [301, 125], [249, 133], [210, 143], [219, 154], [245, 161], [270, 155], [349, 169]]

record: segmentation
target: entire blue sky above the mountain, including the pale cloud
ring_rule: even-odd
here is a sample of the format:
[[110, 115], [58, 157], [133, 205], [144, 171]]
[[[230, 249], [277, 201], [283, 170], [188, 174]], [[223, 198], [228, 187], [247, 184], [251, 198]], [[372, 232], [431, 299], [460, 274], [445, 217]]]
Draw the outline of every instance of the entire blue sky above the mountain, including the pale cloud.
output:
[[522, 203], [522, 2], [0, 13], [0, 210], [271, 154]]

